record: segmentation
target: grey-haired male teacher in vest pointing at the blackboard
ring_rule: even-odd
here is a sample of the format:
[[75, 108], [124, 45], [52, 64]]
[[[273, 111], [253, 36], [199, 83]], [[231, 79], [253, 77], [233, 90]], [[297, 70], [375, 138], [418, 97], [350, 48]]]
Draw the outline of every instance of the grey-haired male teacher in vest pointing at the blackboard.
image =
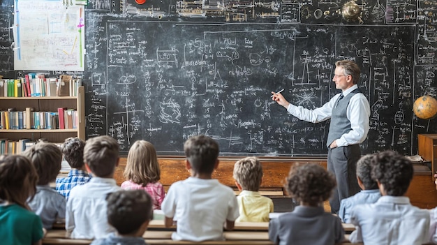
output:
[[336, 61], [332, 81], [341, 89], [330, 101], [314, 110], [290, 104], [282, 94], [273, 94], [273, 100], [286, 107], [293, 116], [317, 123], [331, 119], [327, 138], [327, 168], [334, 172], [337, 187], [329, 200], [331, 211], [337, 214], [340, 201], [360, 191], [355, 165], [361, 157], [360, 143], [369, 132], [370, 105], [358, 89], [360, 67], [353, 61]]

